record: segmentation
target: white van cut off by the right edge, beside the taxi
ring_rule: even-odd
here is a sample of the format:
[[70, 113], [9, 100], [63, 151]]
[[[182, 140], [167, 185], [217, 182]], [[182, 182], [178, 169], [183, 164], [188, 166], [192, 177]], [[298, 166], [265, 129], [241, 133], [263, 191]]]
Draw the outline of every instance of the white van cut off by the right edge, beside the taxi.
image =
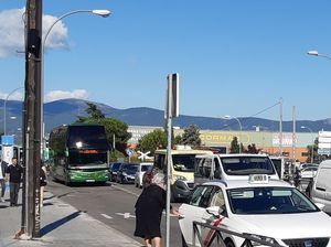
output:
[[310, 193], [314, 203], [324, 204], [323, 211], [331, 213], [331, 160], [320, 163]]

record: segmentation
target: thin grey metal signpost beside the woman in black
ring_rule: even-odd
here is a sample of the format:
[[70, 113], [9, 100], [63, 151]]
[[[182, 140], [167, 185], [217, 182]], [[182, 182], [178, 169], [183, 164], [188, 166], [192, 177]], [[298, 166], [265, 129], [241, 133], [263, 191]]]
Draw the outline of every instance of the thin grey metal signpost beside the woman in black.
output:
[[171, 92], [171, 80], [168, 80], [168, 115], [167, 115], [167, 132], [168, 132], [168, 144], [167, 144], [167, 207], [166, 207], [166, 224], [167, 224], [167, 236], [166, 236], [166, 247], [170, 246], [170, 181], [171, 181], [171, 109], [172, 109], [172, 92]]

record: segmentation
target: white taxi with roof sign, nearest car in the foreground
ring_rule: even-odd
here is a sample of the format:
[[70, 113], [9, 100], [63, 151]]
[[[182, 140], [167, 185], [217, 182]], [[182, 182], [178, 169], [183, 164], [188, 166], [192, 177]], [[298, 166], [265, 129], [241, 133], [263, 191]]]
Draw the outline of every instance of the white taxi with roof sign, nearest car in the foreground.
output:
[[[254, 236], [269, 244], [331, 247], [331, 217], [301, 192], [284, 181], [268, 180], [263, 174], [250, 175], [249, 181], [217, 181], [197, 185], [189, 203], [179, 208], [183, 246], [193, 243], [195, 221]], [[203, 241], [199, 246], [223, 246], [221, 239], [213, 236], [215, 230], [201, 226], [199, 229]], [[226, 247], [239, 247], [245, 241], [243, 237], [221, 235]], [[197, 237], [195, 239], [197, 244]], [[252, 244], [260, 245], [257, 241]]]

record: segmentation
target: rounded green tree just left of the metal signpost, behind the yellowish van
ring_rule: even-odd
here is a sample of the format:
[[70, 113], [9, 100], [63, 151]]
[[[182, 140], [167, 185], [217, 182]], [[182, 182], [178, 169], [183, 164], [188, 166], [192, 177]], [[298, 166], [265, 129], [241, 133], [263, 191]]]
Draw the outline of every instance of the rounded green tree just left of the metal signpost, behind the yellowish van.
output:
[[156, 129], [152, 132], [145, 135], [138, 143], [137, 149], [142, 152], [150, 151], [150, 155], [154, 154], [157, 149], [167, 148], [167, 135], [161, 129]]

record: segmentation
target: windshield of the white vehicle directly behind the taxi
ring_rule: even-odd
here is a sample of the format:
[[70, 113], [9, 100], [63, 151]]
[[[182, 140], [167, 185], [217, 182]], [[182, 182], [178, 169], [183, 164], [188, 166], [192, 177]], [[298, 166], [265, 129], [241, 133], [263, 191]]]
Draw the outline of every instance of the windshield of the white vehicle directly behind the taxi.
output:
[[224, 172], [228, 175], [275, 174], [267, 157], [226, 157], [221, 158]]

